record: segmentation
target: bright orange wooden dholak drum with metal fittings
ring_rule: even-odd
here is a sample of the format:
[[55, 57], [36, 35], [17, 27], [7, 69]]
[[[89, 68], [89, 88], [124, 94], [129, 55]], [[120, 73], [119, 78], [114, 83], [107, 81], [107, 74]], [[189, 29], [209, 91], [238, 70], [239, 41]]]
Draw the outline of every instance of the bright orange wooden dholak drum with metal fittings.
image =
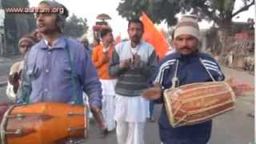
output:
[[1, 122], [2, 144], [52, 144], [86, 138], [86, 110], [86, 106], [54, 102], [10, 106]]

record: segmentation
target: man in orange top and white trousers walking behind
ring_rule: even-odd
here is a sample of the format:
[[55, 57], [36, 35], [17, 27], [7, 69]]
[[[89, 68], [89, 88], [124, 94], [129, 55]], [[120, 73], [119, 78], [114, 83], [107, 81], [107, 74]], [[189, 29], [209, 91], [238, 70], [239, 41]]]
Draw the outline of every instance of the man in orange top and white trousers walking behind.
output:
[[115, 79], [109, 74], [109, 61], [114, 50], [113, 34], [110, 28], [101, 30], [102, 44], [94, 47], [92, 61], [102, 82], [102, 114], [109, 131], [114, 130], [114, 86]]

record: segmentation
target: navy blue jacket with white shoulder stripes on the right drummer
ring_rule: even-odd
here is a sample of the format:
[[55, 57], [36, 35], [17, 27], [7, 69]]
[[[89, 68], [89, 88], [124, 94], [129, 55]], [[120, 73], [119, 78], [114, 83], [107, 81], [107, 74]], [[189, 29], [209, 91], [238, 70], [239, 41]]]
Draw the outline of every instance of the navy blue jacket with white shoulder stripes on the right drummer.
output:
[[[218, 62], [216, 62], [214, 58], [211, 58], [210, 55], [200, 52], [182, 55], [178, 52], [174, 52], [173, 54], [167, 55], [166, 58], [162, 60], [151, 82], [158, 82], [162, 85], [162, 89], [169, 89], [172, 86], [171, 79], [174, 77], [177, 60], [179, 62], [177, 74], [179, 86], [194, 82], [212, 81], [199, 58], [202, 58], [204, 66], [206, 66], [206, 69], [210, 71], [210, 74], [212, 74], [216, 81], [224, 80], [224, 75], [222, 74], [220, 66], [218, 66]], [[163, 102], [162, 97], [156, 102]], [[162, 142], [170, 143], [176, 142], [175, 139], [182, 139], [188, 140], [187, 143], [191, 143], [192, 141], [190, 142], [189, 140], [194, 138], [203, 138], [205, 139], [204, 141], [207, 142], [210, 138], [212, 122], [209, 121], [194, 126], [173, 128], [170, 126], [170, 122], [166, 116], [166, 108], [163, 105], [158, 124]]]

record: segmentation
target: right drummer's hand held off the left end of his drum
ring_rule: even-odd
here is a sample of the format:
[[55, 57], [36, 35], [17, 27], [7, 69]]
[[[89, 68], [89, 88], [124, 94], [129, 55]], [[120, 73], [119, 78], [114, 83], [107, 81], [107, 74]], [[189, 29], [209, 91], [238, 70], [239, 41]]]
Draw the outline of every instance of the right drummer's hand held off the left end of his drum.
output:
[[156, 100], [162, 95], [162, 88], [159, 83], [155, 83], [153, 87], [150, 87], [142, 92], [142, 97], [150, 100]]

